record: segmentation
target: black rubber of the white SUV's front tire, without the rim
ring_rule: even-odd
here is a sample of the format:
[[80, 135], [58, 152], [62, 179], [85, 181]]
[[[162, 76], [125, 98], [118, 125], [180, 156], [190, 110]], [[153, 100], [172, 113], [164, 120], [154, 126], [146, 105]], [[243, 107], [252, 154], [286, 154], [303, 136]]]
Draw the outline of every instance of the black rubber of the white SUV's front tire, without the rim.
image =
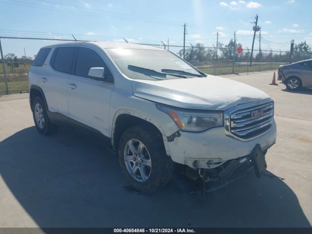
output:
[[[131, 139], [137, 139], [143, 143], [149, 155], [151, 170], [149, 177], [145, 181], [137, 181], [127, 169], [124, 151], [128, 141]], [[171, 157], [166, 155], [162, 136], [153, 126], [137, 125], [127, 129], [119, 141], [118, 160], [122, 173], [131, 186], [144, 194], [151, 194], [163, 188], [173, 176], [174, 163]], [[138, 173], [141, 174], [140, 170]]]

